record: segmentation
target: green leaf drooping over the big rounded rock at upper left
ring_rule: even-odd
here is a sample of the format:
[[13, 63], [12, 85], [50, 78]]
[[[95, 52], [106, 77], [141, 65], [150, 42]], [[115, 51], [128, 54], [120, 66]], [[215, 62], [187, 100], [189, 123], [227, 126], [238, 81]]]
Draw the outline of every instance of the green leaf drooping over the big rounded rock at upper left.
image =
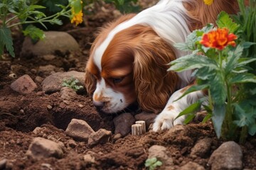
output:
[[46, 37], [46, 35], [43, 33], [43, 30], [32, 25], [27, 26], [26, 29], [23, 30], [23, 34], [25, 36], [30, 36], [33, 40], [43, 40], [43, 38]]

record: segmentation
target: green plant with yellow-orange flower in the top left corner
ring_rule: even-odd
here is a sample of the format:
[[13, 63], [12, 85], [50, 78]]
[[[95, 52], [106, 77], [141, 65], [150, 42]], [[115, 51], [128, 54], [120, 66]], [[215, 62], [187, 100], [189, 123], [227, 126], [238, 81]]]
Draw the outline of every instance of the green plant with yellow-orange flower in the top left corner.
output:
[[[28, 24], [23, 30], [23, 34], [31, 36], [32, 39], [43, 39], [45, 37], [43, 30], [31, 24], [40, 23], [44, 28], [46, 28], [45, 23], [61, 25], [60, 16], [70, 18], [75, 24], [81, 21], [80, 18], [76, 17], [82, 11], [80, 0], [69, 0], [67, 6], [56, 5], [61, 8], [61, 11], [50, 16], [41, 12], [40, 10], [45, 7], [37, 5], [36, 2], [35, 0], [3, 0], [0, 2], [0, 20], [2, 23], [0, 26], [0, 56], [4, 53], [4, 48], [12, 57], [15, 56], [11, 38], [11, 28], [14, 26]], [[18, 20], [13, 23], [17, 18]]]

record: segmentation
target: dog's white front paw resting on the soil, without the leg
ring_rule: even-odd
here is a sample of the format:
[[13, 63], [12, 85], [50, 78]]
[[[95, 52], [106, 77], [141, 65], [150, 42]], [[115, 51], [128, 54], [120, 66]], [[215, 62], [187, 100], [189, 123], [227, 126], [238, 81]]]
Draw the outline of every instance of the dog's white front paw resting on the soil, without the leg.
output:
[[156, 119], [154, 120], [153, 131], [156, 132], [158, 130], [170, 129], [175, 125], [183, 125], [185, 116], [182, 115], [181, 117], [176, 118], [178, 116], [178, 113], [170, 111], [161, 112], [159, 115], [156, 116]]

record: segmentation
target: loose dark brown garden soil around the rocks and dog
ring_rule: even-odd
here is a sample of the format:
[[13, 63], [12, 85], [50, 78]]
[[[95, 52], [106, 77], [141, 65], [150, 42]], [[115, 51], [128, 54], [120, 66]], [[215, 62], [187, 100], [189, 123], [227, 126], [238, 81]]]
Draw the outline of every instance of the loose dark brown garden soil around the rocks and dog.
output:
[[[111, 11], [111, 10], [110, 10]], [[98, 27], [114, 16], [110, 11], [101, 11], [97, 15], [86, 18], [85, 24], [74, 27], [69, 24], [59, 30], [67, 31], [78, 40], [80, 51], [70, 54], [56, 54], [54, 60], [46, 61], [41, 57], [21, 57], [23, 35], [18, 31], [13, 35], [16, 57], [7, 54], [0, 60], [0, 161], [7, 159], [6, 169], [146, 169], [144, 162], [148, 149], [152, 145], [161, 145], [171, 152], [174, 159], [174, 169], [192, 161], [210, 169], [207, 166], [210, 154], [218, 148], [222, 140], [215, 137], [212, 123], [193, 122], [186, 127], [186, 135], [169, 135], [168, 131], [146, 132], [141, 136], [127, 135], [114, 140], [113, 118], [116, 115], [98, 113], [92, 106], [90, 96], [82, 91], [70, 103], [64, 103], [60, 92], [44, 94], [41, 82], [36, 81], [38, 89], [32, 94], [21, 95], [11, 90], [10, 84], [23, 74], [28, 74], [33, 80], [48, 77], [50, 72], [38, 72], [38, 67], [53, 64], [58, 71], [76, 70], [83, 72], [89, 55], [90, 43]], [[10, 77], [10, 74], [16, 77]], [[50, 107], [49, 107], [50, 106]], [[65, 129], [72, 118], [87, 121], [93, 130], [100, 128], [111, 130], [110, 142], [104, 145], [89, 147], [87, 142], [75, 141], [70, 145], [72, 137], [65, 135]], [[36, 127], [41, 127], [40, 133], [33, 133]], [[64, 156], [33, 160], [26, 157], [28, 146], [34, 137], [44, 137], [55, 142], [63, 142]], [[191, 157], [191, 148], [196, 142], [210, 137], [213, 142], [206, 157]], [[256, 138], [248, 137], [242, 147], [243, 168], [256, 169]], [[86, 163], [83, 156], [87, 153], [95, 155], [95, 163]], [[50, 167], [47, 166], [50, 164]], [[0, 168], [1, 169], [1, 168]]]

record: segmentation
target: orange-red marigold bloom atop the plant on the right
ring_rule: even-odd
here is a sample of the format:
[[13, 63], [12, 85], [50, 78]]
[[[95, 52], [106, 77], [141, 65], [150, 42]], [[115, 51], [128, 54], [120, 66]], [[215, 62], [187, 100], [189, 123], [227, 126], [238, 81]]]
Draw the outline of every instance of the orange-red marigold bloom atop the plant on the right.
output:
[[235, 41], [238, 37], [233, 33], [228, 33], [226, 28], [218, 28], [217, 30], [211, 30], [209, 33], [203, 34], [203, 38], [200, 41], [205, 47], [217, 48], [223, 50], [227, 45], [235, 47]]

